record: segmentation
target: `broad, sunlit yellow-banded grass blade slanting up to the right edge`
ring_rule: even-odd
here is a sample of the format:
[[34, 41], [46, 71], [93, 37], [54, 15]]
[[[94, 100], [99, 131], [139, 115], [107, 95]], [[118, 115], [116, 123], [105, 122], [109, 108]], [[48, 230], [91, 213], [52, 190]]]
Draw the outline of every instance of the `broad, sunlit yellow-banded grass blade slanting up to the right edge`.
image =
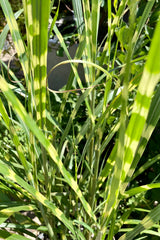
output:
[[[139, 84], [137, 96], [132, 110], [132, 116], [126, 132], [123, 181], [129, 171], [130, 164], [135, 156], [145, 121], [148, 116], [151, 97], [155, 86], [160, 79], [160, 20], [157, 23], [152, 40], [148, 60]], [[138, 124], [137, 124], [138, 123]], [[135, 132], [136, 129], [136, 132]]]

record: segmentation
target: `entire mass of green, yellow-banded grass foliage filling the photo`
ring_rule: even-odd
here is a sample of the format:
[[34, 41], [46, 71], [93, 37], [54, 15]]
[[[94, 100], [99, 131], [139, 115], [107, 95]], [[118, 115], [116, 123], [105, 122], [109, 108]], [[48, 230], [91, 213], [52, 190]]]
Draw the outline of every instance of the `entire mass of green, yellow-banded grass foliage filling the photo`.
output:
[[[160, 187], [158, 172], [141, 185], [159, 161], [149, 141], [160, 118], [159, 3], [72, 0], [74, 59], [55, 25], [57, 1], [52, 18], [54, 1], [23, 0], [26, 41], [20, 12], [0, 3], [8, 23], [0, 50], [10, 29], [24, 73], [23, 83], [11, 70], [16, 82], [0, 75], [0, 238], [159, 237], [159, 199], [147, 196]], [[68, 57], [52, 71], [71, 65], [59, 92], [46, 84], [52, 30]]]

